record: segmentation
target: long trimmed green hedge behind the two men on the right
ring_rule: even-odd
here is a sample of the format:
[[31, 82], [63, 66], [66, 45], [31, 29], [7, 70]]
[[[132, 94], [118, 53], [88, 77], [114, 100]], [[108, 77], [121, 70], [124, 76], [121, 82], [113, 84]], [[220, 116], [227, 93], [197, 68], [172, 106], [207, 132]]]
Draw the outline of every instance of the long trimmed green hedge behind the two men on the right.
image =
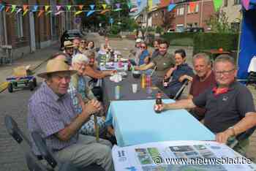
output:
[[237, 50], [238, 34], [218, 33], [167, 33], [162, 35], [170, 45], [193, 46], [194, 54], [202, 50]]

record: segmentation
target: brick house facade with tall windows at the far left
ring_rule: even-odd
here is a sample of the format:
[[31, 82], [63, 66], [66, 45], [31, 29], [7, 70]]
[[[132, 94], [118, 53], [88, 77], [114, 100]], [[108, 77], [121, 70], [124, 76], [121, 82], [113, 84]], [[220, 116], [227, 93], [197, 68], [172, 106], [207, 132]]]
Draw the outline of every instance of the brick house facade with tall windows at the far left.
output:
[[[45, 5], [72, 4], [72, 1], [51, 1], [51, 0], [6, 0], [0, 1], [1, 4], [17, 4], [22, 7], [23, 4], [39, 5], [39, 9], [44, 9]], [[29, 9], [32, 9], [30, 6]], [[54, 9], [50, 9], [54, 10]], [[5, 9], [0, 12], [0, 47], [3, 45], [12, 46], [12, 58], [20, 58], [27, 53], [34, 52], [37, 49], [48, 47], [58, 42], [59, 37], [67, 26], [72, 29], [72, 16], [66, 16], [68, 12], [62, 12], [61, 15], [45, 15], [45, 12], [37, 17], [37, 12], [6, 12]], [[54, 11], [53, 11], [54, 12]], [[1, 54], [4, 48], [0, 48]]]

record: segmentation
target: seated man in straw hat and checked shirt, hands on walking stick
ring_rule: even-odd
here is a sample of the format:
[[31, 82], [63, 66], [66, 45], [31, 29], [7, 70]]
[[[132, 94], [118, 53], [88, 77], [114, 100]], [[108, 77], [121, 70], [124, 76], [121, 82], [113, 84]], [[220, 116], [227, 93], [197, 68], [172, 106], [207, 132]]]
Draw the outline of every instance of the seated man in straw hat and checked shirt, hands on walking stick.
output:
[[[78, 133], [102, 106], [96, 100], [84, 104], [80, 99], [82, 112], [79, 115], [75, 112], [71, 96], [67, 94], [71, 75], [75, 73], [64, 60], [48, 61], [46, 71], [38, 75], [45, 80], [29, 99], [29, 134], [39, 132], [59, 161], [69, 161], [79, 168], [96, 163], [105, 170], [114, 170], [110, 142], [100, 139], [98, 143], [95, 137]], [[39, 155], [32, 138], [31, 141], [34, 153]]]

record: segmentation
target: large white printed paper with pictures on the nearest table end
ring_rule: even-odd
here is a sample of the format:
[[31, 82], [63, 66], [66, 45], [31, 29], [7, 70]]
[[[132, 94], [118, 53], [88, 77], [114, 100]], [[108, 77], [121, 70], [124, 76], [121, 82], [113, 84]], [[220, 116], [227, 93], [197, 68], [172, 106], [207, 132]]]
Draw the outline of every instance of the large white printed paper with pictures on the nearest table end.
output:
[[[114, 146], [112, 156], [115, 170], [255, 170], [255, 164], [210, 164], [217, 159], [246, 160], [227, 145], [206, 141], [166, 141], [132, 145], [124, 148]], [[228, 157], [228, 158], [227, 158]], [[215, 158], [215, 160], [214, 160]], [[176, 160], [174, 160], [176, 159]], [[186, 160], [187, 159], [187, 160]], [[190, 159], [190, 160], [189, 160]], [[208, 164], [185, 164], [187, 161], [208, 161]], [[167, 164], [168, 161], [183, 164]], [[157, 163], [158, 162], [158, 163]], [[155, 164], [157, 163], [157, 164]]]

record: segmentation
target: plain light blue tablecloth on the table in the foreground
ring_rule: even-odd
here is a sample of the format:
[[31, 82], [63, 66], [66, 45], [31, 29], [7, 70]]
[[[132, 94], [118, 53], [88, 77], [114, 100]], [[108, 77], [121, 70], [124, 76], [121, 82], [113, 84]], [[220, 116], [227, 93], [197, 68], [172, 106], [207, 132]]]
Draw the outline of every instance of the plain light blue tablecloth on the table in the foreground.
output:
[[[174, 102], [163, 99], [163, 102]], [[106, 123], [113, 124], [118, 146], [167, 140], [215, 140], [215, 135], [187, 110], [154, 112], [155, 100], [110, 103]]]

